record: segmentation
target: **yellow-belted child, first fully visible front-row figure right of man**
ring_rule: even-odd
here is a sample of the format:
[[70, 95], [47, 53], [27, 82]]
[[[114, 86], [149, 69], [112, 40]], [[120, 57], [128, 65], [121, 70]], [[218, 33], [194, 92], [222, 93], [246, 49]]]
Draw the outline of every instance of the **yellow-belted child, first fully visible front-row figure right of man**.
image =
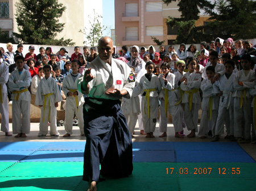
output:
[[154, 138], [156, 118], [158, 115], [158, 93], [162, 87], [159, 78], [153, 74], [155, 65], [152, 61], [146, 63], [147, 73], [141, 77], [138, 86], [133, 90], [133, 96], [142, 93], [142, 122], [146, 138]]

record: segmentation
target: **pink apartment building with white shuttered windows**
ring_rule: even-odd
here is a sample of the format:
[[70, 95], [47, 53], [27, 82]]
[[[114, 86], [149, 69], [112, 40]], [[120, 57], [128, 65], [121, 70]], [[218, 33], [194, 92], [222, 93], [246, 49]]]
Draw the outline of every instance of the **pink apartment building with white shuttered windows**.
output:
[[[180, 17], [177, 2], [168, 6], [162, 0], [115, 0], [115, 44], [147, 46], [155, 44], [154, 36], [164, 45], [172, 44], [177, 30], [166, 24], [168, 16]], [[205, 24], [209, 17], [200, 15], [196, 26]]]

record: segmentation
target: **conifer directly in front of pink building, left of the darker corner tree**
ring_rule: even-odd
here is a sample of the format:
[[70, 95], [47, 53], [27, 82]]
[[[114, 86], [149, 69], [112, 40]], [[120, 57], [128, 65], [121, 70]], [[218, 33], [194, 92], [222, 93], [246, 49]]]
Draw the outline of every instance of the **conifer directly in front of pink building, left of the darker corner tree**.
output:
[[[163, 0], [167, 5], [177, 0]], [[179, 28], [175, 43], [200, 43], [200, 41], [209, 41], [212, 37], [209, 34], [204, 34], [204, 26], [196, 27], [196, 20], [200, 18], [200, 9], [205, 13], [210, 14], [214, 9], [214, 5], [207, 0], [180, 0], [177, 4], [181, 13], [180, 18], [170, 17], [167, 19], [167, 24], [172, 28]]]

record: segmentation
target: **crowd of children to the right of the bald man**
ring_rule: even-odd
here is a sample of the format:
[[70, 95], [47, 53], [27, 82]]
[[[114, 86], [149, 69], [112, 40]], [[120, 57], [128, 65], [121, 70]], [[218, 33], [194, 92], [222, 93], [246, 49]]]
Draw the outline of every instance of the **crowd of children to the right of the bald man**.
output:
[[[240, 40], [238, 40], [239, 43]], [[243, 41], [245, 45], [248, 41]], [[183, 46], [183, 47], [182, 47]], [[192, 56], [182, 57], [185, 45], [181, 44], [178, 53], [162, 54], [153, 53], [154, 48], [141, 48], [141, 57], [146, 62], [146, 74], [137, 81], [133, 90], [133, 98], [142, 96], [141, 113], [146, 138], [154, 138], [156, 118], [160, 104], [159, 131], [167, 136], [167, 117], [172, 115], [172, 123], [175, 128], [175, 137], [183, 138], [183, 128], [187, 126], [191, 131], [187, 137], [195, 137], [199, 132], [199, 138], [212, 136], [212, 141], [218, 141], [224, 134], [224, 125], [227, 135], [225, 138], [237, 140], [239, 143], [255, 142], [255, 88], [256, 76], [253, 56], [245, 48], [243, 55], [230, 55], [225, 52], [218, 63], [220, 52], [215, 49], [209, 51], [206, 45], [201, 43], [203, 53], [197, 54], [196, 46], [191, 45], [189, 52]], [[147, 52], [144, 52], [144, 51]], [[236, 48], [230, 48], [230, 52]], [[221, 51], [221, 48], [220, 48]], [[144, 52], [144, 55], [142, 55]], [[202, 52], [202, 51], [201, 51]], [[236, 51], [235, 51], [236, 52]], [[163, 59], [160, 60], [160, 55]], [[154, 57], [152, 57], [154, 56]], [[170, 57], [174, 56], [171, 60]], [[145, 59], [146, 57], [146, 59]], [[183, 59], [179, 59], [179, 58]], [[201, 62], [201, 59], [207, 61]], [[151, 61], [152, 60], [152, 61]], [[160, 61], [159, 61], [160, 60]], [[172, 65], [171, 61], [175, 61]], [[238, 64], [239, 63], [239, 64]], [[241, 67], [240, 67], [241, 66]], [[174, 68], [172, 68], [174, 67]], [[131, 67], [132, 68], [132, 67]], [[156, 68], [159, 68], [156, 72]], [[133, 68], [132, 68], [133, 69]], [[186, 72], [187, 73], [186, 73]], [[135, 107], [136, 105], [133, 105]], [[201, 122], [198, 130], [199, 109], [201, 106]], [[127, 105], [127, 107], [130, 107]], [[130, 113], [140, 109], [130, 109]], [[125, 110], [125, 107], [122, 108]], [[135, 123], [133, 123], [135, 124]], [[245, 124], [245, 125], [243, 125]], [[129, 125], [133, 134], [134, 127]], [[255, 128], [256, 130], [256, 128]]]

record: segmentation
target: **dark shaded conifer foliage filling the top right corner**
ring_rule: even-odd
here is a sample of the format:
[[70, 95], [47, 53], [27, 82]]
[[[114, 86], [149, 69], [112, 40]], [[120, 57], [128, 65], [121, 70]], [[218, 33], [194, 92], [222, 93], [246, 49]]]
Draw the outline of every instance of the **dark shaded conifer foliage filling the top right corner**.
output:
[[209, 27], [221, 38], [251, 39], [256, 37], [256, 1], [217, 0]]

